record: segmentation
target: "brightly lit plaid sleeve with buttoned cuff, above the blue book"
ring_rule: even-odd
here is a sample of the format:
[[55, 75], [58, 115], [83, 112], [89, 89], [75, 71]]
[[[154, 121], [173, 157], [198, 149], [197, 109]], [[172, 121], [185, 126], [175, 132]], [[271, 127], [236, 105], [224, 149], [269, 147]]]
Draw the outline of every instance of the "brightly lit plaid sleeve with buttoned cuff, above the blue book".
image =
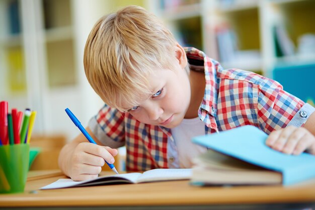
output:
[[283, 90], [276, 81], [264, 79], [258, 88], [258, 121], [270, 133], [288, 125], [302, 126], [314, 107]]

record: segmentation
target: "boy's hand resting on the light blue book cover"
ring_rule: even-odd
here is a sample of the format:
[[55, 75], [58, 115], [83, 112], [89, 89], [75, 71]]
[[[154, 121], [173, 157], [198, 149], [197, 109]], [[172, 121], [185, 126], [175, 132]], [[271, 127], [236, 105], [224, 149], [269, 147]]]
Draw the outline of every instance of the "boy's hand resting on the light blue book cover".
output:
[[315, 155], [315, 136], [303, 127], [288, 126], [272, 131], [266, 145], [286, 154], [299, 155], [307, 151]]

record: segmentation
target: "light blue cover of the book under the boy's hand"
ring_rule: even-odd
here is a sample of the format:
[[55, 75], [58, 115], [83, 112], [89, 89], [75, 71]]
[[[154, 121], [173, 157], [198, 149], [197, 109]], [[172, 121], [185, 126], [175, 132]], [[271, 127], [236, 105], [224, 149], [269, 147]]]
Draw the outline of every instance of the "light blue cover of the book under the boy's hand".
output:
[[267, 137], [259, 128], [246, 125], [220, 133], [196, 136], [192, 141], [224, 155], [280, 172], [283, 185], [315, 177], [315, 156], [307, 153], [295, 156], [278, 152], [265, 144]]

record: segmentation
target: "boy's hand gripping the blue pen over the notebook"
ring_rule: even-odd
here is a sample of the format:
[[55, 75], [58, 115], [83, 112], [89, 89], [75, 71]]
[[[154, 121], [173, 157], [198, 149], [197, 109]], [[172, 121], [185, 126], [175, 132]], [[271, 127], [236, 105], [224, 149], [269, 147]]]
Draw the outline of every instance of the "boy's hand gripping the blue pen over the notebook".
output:
[[97, 178], [102, 171], [105, 160], [113, 164], [118, 151], [87, 142], [78, 144], [67, 164], [68, 175], [73, 181]]

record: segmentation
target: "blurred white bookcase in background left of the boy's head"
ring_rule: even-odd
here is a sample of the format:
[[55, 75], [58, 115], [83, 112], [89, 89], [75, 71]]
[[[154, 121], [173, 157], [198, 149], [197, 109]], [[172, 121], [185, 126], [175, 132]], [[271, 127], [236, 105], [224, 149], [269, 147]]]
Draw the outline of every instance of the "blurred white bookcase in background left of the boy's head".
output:
[[34, 132], [73, 138], [64, 109], [87, 125], [102, 106], [85, 78], [83, 50], [108, 6], [101, 0], [0, 1], [0, 100], [36, 110]]

